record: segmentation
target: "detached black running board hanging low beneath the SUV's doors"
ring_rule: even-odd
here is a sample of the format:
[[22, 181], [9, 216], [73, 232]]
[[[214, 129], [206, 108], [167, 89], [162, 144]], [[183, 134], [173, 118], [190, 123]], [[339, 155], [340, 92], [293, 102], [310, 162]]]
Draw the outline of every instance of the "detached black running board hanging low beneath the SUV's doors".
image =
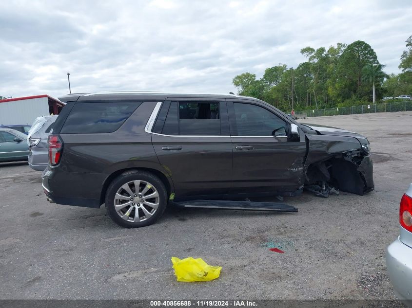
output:
[[297, 207], [277, 202], [252, 202], [231, 200], [191, 200], [171, 202], [173, 205], [202, 209], [297, 212]]

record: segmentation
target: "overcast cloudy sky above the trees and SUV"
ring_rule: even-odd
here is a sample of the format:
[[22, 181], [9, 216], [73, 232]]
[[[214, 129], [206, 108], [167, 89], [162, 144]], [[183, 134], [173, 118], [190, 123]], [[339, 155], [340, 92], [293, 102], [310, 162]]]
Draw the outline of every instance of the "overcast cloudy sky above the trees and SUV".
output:
[[235, 91], [232, 78], [306, 46], [364, 40], [399, 72], [411, 0], [19, 1], [0, 3], [0, 95]]

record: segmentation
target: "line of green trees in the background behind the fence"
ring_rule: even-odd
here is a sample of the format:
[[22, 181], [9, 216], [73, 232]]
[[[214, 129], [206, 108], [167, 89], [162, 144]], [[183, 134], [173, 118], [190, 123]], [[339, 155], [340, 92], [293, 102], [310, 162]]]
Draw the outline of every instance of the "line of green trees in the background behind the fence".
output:
[[373, 48], [358, 40], [326, 49], [300, 50], [307, 61], [296, 68], [279, 63], [256, 79], [251, 72], [233, 78], [238, 94], [259, 98], [284, 111], [370, 104], [383, 96], [412, 93], [412, 36], [400, 58], [399, 74], [388, 75]]

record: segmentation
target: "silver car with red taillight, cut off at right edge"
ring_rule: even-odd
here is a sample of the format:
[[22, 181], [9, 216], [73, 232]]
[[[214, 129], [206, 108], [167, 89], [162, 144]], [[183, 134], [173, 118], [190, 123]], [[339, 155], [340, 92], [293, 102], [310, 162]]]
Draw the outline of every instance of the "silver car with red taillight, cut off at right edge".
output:
[[412, 307], [412, 184], [399, 206], [400, 235], [388, 246], [386, 267], [396, 296]]

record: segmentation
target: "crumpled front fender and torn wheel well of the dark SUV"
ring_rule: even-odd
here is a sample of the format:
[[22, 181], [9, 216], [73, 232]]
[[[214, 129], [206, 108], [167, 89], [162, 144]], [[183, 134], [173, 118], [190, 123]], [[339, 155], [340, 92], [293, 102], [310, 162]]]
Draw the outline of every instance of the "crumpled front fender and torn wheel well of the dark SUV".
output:
[[371, 154], [357, 138], [336, 135], [307, 138], [306, 189], [322, 197], [338, 190], [364, 195], [374, 189]]

